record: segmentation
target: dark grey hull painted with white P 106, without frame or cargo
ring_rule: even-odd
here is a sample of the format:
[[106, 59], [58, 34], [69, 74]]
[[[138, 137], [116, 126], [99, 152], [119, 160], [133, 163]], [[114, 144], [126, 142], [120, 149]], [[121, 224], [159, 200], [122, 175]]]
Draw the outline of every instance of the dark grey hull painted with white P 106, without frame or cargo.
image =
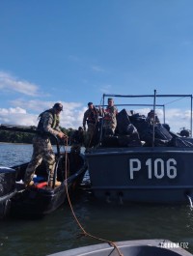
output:
[[93, 149], [86, 154], [92, 190], [108, 201], [187, 203], [193, 196], [192, 148]]

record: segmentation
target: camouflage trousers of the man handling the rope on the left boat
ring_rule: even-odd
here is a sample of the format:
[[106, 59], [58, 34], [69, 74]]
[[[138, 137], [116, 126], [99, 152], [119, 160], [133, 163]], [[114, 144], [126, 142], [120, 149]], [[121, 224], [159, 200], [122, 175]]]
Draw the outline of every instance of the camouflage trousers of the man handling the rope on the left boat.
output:
[[48, 179], [53, 179], [55, 154], [52, 150], [50, 140], [49, 138], [35, 136], [33, 139], [33, 155], [25, 172], [25, 185], [29, 185], [29, 183], [33, 180], [36, 168], [41, 164], [42, 160], [46, 166], [46, 174], [49, 177]]

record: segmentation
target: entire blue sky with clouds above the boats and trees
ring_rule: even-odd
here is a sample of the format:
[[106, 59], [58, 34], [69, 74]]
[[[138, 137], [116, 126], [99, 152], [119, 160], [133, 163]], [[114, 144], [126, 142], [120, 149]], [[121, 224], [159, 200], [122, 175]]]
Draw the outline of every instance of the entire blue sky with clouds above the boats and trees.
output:
[[[0, 123], [37, 125], [61, 101], [61, 125], [78, 128], [103, 93], [192, 94], [192, 10], [192, 0], [1, 0]], [[183, 101], [170, 108], [171, 128], [188, 128]]]

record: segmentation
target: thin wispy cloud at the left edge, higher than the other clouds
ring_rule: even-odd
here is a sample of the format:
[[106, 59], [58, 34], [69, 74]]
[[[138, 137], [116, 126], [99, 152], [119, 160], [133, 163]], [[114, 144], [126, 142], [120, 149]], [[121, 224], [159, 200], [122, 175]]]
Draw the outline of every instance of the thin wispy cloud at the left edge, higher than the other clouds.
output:
[[17, 92], [28, 96], [39, 96], [39, 87], [25, 80], [20, 80], [8, 72], [0, 71], [0, 89]]

